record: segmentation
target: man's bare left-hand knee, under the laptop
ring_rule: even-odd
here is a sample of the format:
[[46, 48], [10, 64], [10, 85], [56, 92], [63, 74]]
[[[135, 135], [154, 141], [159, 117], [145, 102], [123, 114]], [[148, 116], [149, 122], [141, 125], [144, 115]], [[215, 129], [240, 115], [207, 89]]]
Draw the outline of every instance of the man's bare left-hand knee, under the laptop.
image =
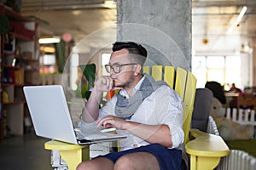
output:
[[113, 170], [113, 161], [108, 158], [96, 158], [90, 161], [83, 161], [77, 167], [77, 170]]

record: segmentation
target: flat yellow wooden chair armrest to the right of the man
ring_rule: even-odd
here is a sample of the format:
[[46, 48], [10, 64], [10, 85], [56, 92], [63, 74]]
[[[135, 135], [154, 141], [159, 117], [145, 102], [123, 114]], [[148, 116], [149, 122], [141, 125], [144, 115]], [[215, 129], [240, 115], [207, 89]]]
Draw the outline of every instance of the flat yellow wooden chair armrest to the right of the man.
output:
[[191, 129], [190, 134], [195, 137], [186, 145], [186, 152], [193, 156], [227, 156], [229, 147], [220, 136], [204, 133], [198, 129]]

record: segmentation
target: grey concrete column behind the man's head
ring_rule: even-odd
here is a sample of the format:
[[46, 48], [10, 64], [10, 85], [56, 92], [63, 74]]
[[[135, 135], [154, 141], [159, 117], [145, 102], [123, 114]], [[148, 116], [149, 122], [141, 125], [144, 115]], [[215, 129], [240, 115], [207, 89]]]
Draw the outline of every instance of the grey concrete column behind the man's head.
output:
[[147, 65], [191, 67], [191, 0], [118, 0], [117, 40], [140, 42]]

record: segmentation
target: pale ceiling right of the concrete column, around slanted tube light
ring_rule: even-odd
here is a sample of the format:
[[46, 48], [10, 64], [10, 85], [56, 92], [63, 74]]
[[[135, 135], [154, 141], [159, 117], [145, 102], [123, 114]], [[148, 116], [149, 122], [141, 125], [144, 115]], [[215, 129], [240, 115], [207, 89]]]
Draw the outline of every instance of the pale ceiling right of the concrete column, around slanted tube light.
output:
[[[246, 14], [235, 30], [228, 33], [243, 6], [247, 6]], [[246, 44], [253, 48], [256, 1], [192, 1], [192, 37], [197, 54], [237, 54], [241, 45]]]

